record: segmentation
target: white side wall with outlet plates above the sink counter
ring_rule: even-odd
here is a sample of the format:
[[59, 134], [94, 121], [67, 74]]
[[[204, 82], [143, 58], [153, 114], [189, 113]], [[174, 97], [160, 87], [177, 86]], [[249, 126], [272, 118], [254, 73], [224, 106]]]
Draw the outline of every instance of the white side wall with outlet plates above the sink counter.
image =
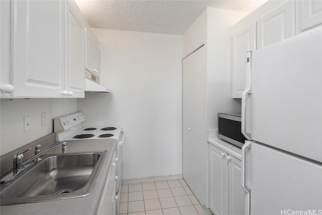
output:
[[[53, 132], [52, 118], [77, 111], [76, 99], [14, 99], [0, 101], [0, 153], [6, 154]], [[41, 113], [47, 124], [41, 126]], [[24, 117], [30, 116], [31, 129], [24, 132]]]

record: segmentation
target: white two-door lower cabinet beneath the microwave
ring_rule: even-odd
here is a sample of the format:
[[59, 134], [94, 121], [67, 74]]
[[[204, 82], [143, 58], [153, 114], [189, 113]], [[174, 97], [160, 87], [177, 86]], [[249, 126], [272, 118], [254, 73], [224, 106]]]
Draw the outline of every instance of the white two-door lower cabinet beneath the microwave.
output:
[[[234, 153], [235, 154], [235, 153]], [[214, 214], [244, 214], [241, 161], [209, 144], [209, 206]]]

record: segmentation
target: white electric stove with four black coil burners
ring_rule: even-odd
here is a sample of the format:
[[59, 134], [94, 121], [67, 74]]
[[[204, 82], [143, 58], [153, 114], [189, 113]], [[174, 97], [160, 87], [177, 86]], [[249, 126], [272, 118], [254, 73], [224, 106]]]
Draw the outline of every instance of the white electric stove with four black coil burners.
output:
[[[72, 141], [84, 140], [91, 144], [92, 140], [101, 139], [117, 139], [116, 157], [118, 158], [116, 166], [116, 195], [120, 191], [122, 180], [122, 145], [124, 140], [124, 132], [121, 126], [91, 126], [83, 127], [82, 122], [85, 121], [85, 115], [82, 112], [76, 112], [54, 118], [54, 132], [56, 133], [56, 141]], [[118, 200], [117, 200], [118, 201]], [[117, 202], [119, 205], [119, 202]]]

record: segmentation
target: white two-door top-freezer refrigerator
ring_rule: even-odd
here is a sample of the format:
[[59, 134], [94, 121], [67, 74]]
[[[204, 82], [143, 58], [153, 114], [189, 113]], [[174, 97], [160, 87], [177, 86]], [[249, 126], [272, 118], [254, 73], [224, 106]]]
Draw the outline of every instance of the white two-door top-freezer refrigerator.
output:
[[322, 214], [322, 30], [247, 53], [245, 214]]

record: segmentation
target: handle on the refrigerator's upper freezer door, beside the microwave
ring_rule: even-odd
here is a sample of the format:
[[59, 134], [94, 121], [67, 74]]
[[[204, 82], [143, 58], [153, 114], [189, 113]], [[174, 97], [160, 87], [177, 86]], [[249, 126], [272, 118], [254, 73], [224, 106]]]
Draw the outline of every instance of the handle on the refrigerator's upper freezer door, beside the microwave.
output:
[[247, 63], [246, 63], [246, 89], [243, 94], [241, 94], [241, 133], [251, 140], [251, 134], [246, 133], [245, 122], [246, 122], [246, 94], [252, 93], [252, 51], [246, 53]]

